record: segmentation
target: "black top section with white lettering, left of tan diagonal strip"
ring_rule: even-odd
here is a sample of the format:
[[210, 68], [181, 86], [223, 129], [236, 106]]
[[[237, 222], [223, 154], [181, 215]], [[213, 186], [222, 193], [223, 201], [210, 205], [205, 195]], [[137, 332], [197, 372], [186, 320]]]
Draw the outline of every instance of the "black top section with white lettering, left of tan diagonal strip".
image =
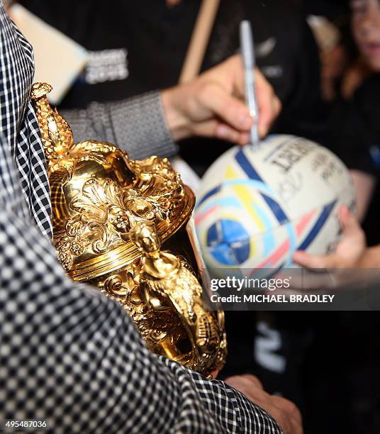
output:
[[[64, 109], [176, 84], [199, 9], [199, 1], [172, 9], [160, 0], [20, 3], [89, 50], [89, 65], [62, 101]], [[113, 76], [108, 67], [124, 74]]]

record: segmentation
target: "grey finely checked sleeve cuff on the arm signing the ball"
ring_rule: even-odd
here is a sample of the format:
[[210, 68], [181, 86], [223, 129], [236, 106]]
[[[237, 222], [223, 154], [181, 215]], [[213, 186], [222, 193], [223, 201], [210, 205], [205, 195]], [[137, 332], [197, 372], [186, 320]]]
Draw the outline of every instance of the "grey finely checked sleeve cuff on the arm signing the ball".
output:
[[87, 109], [60, 110], [72, 127], [74, 140], [105, 140], [141, 160], [150, 155], [177, 154], [164, 117], [160, 92], [151, 91], [122, 101], [93, 102]]

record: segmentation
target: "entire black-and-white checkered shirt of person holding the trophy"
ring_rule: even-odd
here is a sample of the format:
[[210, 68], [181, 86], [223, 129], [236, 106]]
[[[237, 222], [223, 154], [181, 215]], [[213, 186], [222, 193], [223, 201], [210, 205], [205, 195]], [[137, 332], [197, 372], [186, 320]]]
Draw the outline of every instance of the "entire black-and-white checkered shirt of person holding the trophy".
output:
[[[281, 433], [223, 382], [156, 357], [118, 304], [55, 259], [33, 52], [0, 2], [0, 420], [55, 433]], [[37, 223], [37, 224], [35, 224]]]

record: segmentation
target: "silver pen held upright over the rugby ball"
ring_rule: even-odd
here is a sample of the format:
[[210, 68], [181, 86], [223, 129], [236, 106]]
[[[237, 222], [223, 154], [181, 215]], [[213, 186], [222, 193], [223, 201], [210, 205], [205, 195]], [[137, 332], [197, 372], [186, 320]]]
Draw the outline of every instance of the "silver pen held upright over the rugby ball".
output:
[[240, 50], [242, 52], [242, 63], [244, 67], [245, 81], [245, 103], [250, 109], [253, 118], [253, 125], [250, 130], [250, 142], [252, 146], [259, 146], [259, 110], [255, 93], [255, 49], [253, 45], [252, 27], [250, 21], [240, 23]]

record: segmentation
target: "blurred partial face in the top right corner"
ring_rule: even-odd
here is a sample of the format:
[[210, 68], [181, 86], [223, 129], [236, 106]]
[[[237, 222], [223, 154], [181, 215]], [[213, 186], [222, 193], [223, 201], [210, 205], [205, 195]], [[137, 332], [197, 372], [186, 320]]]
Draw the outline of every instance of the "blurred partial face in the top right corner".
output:
[[364, 60], [380, 72], [380, 0], [352, 0], [352, 33]]

